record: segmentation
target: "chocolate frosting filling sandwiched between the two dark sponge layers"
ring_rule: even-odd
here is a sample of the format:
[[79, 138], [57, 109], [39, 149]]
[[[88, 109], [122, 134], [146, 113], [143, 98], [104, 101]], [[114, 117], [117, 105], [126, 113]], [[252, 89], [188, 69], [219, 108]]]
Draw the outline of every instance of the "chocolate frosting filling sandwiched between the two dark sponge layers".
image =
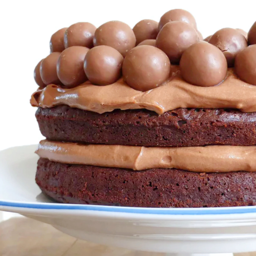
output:
[[176, 168], [197, 172], [256, 171], [256, 146], [141, 147], [40, 141], [41, 158], [68, 164], [127, 168]]

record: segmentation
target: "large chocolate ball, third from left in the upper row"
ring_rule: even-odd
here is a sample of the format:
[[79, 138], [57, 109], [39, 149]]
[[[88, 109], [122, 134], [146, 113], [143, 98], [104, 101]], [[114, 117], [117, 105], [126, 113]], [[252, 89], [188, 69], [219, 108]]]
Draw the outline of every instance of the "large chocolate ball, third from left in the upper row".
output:
[[107, 45], [115, 48], [123, 56], [136, 45], [132, 29], [121, 21], [109, 21], [95, 31], [94, 46]]

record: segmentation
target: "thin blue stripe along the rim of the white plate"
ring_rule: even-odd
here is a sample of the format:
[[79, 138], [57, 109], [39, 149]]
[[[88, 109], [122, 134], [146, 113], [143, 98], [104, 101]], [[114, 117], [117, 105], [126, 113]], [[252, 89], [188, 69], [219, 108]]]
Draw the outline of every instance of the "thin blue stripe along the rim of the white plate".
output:
[[[256, 206], [218, 207], [218, 208], [139, 208], [104, 205], [68, 205], [55, 203], [22, 203], [0, 201], [0, 206], [21, 207], [30, 209], [57, 209], [57, 210], [93, 210], [116, 213], [144, 213], [164, 215], [209, 215], [209, 214], [237, 214], [256, 213]], [[3, 209], [4, 210], [4, 209]]]

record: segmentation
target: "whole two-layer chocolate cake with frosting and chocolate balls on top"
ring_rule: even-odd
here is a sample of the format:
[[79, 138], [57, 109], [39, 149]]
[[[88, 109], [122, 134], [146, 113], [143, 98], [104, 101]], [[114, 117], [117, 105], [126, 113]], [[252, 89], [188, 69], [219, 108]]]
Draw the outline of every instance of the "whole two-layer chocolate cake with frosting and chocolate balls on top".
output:
[[181, 9], [133, 29], [51, 36], [31, 98], [45, 140], [36, 183], [55, 201], [256, 205], [256, 23], [203, 40]]

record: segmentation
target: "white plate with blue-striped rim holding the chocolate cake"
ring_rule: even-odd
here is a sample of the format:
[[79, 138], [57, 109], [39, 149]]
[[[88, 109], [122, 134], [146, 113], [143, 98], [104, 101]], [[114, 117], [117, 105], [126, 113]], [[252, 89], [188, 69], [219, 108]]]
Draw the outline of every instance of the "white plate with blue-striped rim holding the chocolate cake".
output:
[[74, 237], [170, 253], [256, 251], [256, 207], [154, 209], [50, 201], [34, 182], [36, 145], [0, 152], [0, 210], [46, 222]]

